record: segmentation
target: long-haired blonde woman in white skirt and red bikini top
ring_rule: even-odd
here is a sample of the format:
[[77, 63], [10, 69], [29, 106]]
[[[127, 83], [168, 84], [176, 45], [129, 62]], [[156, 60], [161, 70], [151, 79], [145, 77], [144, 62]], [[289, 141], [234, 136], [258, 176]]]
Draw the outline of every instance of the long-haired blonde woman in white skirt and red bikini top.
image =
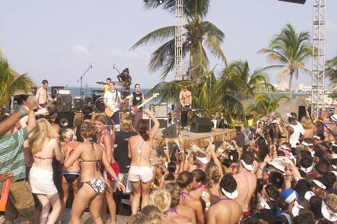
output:
[[[29, 137], [29, 147], [34, 162], [29, 173], [29, 185], [42, 205], [40, 223], [55, 223], [61, 210], [60, 197], [53, 181], [53, 158], [63, 163], [63, 154], [58, 148], [58, 134], [46, 119], [37, 121]], [[50, 207], [53, 208], [49, 214]]]

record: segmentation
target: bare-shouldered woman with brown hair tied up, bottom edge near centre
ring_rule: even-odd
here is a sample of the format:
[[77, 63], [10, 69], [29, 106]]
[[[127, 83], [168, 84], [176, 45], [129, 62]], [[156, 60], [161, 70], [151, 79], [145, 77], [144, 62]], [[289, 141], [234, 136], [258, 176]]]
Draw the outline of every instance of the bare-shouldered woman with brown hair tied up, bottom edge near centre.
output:
[[197, 214], [197, 221], [200, 224], [204, 224], [204, 212], [202, 210], [202, 203], [200, 200], [193, 199], [190, 196], [190, 190], [192, 189], [193, 175], [188, 171], [183, 171], [176, 179], [176, 184], [181, 188], [181, 200], [179, 205], [191, 207], [195, 214]]

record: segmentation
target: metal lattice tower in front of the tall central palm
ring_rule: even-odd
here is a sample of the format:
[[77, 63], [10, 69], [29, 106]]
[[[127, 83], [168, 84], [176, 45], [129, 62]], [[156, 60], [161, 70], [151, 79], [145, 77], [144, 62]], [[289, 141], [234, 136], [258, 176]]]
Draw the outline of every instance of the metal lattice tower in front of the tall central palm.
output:
[[176, 0], [174, 34], [174, 79], [183, 80], [183, 0]]

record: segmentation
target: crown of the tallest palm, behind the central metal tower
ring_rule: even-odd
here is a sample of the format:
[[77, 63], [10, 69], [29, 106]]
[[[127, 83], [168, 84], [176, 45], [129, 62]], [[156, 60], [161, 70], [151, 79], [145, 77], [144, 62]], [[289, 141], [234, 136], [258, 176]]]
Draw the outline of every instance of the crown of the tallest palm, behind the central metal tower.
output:
[[[158, 7], [155, 0], [145, 3], [148, 8]], [[174, 12], [175, 0], [165, 1], [161, 7], [169, 12]], [[187, 19], [187, 24], [183, 26], [183, 58], [189, 56], [189, 69], [192, 78], [202, 75], [204, 67], [208, 67], [208, 56], [206, 49], [227, 66], [227, 60], [220, 49], [224, 41], [224, 33], [220, 31], [210, 21], [204, 21], [209, 9], [209, 0], [184, 0], [183, 15]], [[173, 17], [172, 17], [173, 19]], [[151, 54], [149, 71], [161, 70], [163, 80], [174, 67], [174, 26], [158, 28], [156, 31], [142, 37], [138, 42], [131, 46], [131, 50], [146, 44], [162, 45]]]

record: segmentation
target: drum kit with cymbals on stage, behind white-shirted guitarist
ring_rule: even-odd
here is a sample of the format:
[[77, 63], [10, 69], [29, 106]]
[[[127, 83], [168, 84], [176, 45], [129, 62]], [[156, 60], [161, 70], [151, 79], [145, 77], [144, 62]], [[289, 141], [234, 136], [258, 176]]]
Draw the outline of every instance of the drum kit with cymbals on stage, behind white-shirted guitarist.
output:
[[[104, 83], [104, 82], [96, 82], [96, 83], [100, 85], [108, 85], [108, 83]], [[122, 85], [123, 83], [115, 82], [116, 87], [122, 87]], [[95, 112], [99, 112], [99, 113], [104, 112], [106, 105], [104, 105], [104, 102], [103, 102], [103, 99], [104, 99], [103, 93], [104, 93], [103, 89], [92, 89], [91, 97], [86, 97], [83, 99], [83, 107], [89, 106], [89, 107], [92, 107], [92, 109]]]

